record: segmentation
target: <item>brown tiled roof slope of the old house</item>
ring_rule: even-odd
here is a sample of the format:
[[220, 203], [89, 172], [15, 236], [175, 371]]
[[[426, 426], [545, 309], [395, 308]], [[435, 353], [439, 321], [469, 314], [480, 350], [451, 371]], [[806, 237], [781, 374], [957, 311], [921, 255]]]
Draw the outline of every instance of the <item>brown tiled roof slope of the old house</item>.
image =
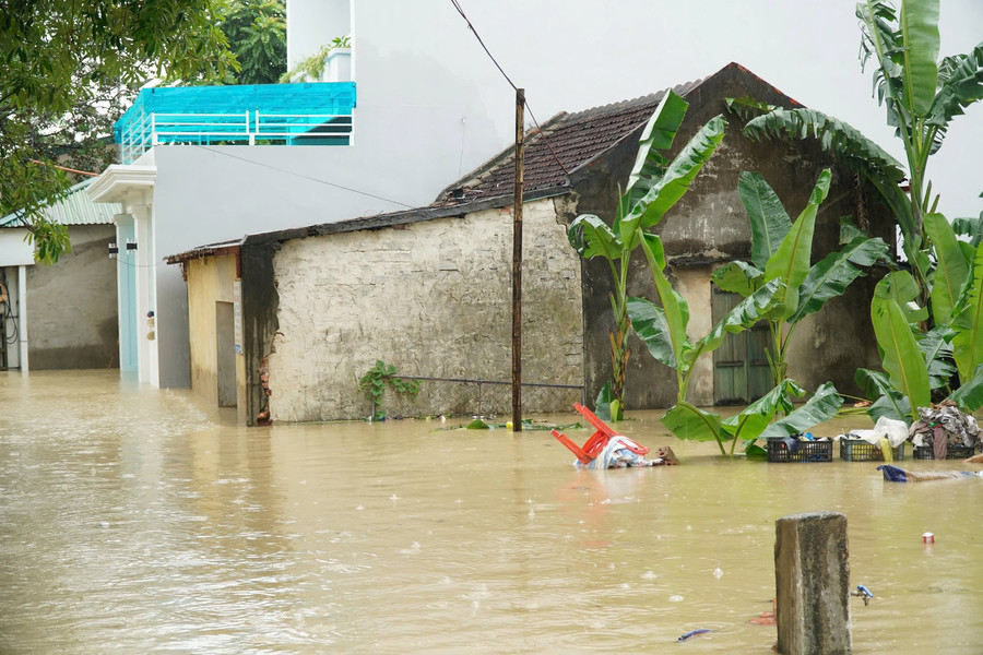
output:
[[[701, 82], [702, 80], [687, 82], [673, 87], [673, 91], [685, 96]], [[570, 172], [644, 126], [664, 95], [665, 92], [661, 91], [576, 114], [561, 112], [543, 124], [542, 131], [528, 132], [523, 157], [523, 189], [529, 192], [565, 184]], [[461, 202], [512, 195], [514, 160], [513, 147], [448, 187], [431, 206], [451, 206]], [[454, 198], [454, 189], [463, 189], [463, 199], [460, 198], [460, 192]]]

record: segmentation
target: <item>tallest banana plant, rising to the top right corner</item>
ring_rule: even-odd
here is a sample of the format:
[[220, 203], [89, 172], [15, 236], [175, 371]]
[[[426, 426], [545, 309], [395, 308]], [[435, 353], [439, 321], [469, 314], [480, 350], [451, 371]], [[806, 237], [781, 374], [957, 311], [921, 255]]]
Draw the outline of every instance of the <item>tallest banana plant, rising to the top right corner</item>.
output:
[[[901, 0], [899, 10], [888, 0], [856, 4], [861, 63], [876, 64], [875, 96], [901, 140], [904, 165], [845, 122], [810, 109], [766, 108], [744, 130], [751, 139], [814, 138], [877, 189], [901, 228], [902, 247], [925, 306], [937, 254], [925, 225], [938, 201], [932, 198], [928, 159], [941, 147], [951, 121], [983, 98], [983, 43], [968, 53], [937, 60], [938, 11], [939, 0]], [[909, 192], [900, 186], [905, 178]]]

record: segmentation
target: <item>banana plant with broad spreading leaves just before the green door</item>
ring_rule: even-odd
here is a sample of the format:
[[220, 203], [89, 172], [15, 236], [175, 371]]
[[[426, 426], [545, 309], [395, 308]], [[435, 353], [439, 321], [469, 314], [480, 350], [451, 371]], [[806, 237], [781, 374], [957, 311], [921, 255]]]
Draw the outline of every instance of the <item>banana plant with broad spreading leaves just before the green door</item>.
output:
[[738, 193], [751, 225], [751, 261], [731, 262], [711, 276], [721, 289], [745, 298], [770, 281], [782, 282], [777, 307], [765, 317], [771, 333], [769, 365], [775, 386], [786, 377], [786, 353], [798, 322], [819, 311], [830, 298], [841, 296], [854, 279], [865, 275], [862, 267], [887, 259], [884, 240], [868, 238], [846, 224], [841, 229], [845, 246], [809, 265], [816, 215], [829, 193], [830, 178], [829, 169], [819, 175], [806, 207], [792, 223], [765, 178], [743, 171]]

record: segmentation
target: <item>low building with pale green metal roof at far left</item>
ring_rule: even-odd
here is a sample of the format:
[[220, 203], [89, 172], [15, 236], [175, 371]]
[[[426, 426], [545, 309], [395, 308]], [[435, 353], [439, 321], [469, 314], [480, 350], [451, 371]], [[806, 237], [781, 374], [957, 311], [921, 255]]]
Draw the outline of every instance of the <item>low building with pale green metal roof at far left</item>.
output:
[[119, 367], [116, 281], [128, 262], [110, 258], [119, 205], [93, 203], [92, 183], [40, 210], [72, 243], [50, 266], [35, 263], [21, 213], [0, 218], [0, 370]]

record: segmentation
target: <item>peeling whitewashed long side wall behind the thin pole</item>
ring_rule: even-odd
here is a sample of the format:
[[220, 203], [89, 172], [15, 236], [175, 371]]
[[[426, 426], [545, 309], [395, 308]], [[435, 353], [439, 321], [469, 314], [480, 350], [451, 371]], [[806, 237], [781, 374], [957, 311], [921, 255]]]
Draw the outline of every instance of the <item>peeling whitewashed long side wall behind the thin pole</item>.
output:
[[[555, 202], [565, 201], [523, 210], [522, 379], [576, 385], [583, 370], [580, 263]], [[273, 419], [367, 416], [358, 379], [378, 359], [406, 376], [510, 380], [511, 259], [508, 210], [284, 242], [273, 260]], [[443, 390], [425, 381], [417, 401], [400, 409], [454, 413], [458, 400]], [[569, 408], [562, 405], [524, 402], [523, 409]]]

